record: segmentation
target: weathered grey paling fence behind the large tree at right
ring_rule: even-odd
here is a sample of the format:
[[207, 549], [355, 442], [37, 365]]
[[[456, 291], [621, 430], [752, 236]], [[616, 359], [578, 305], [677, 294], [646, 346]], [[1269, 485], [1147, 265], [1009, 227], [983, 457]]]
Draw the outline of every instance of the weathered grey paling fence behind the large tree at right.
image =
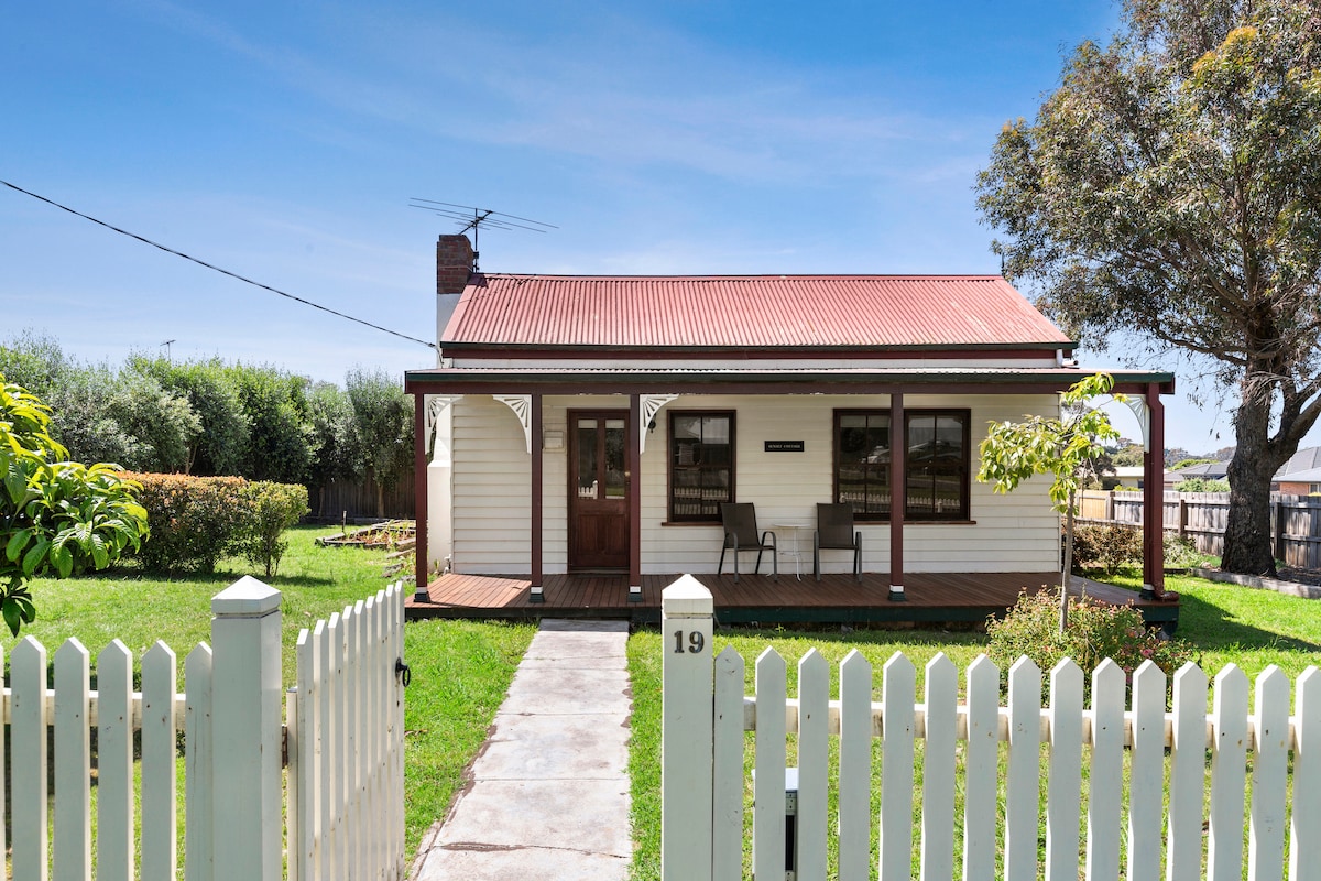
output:
[[[1186, 536], [1202, 553], [1222, 553], [1229, 493], [1165, 493], [1164, 528]], [[1086, 491], [1079, 505], [1081, 523], [1140, 526], [1143, 493]], [[1321, 569], [1321, 495], [1271, 494], [1271, 539], [1275, 557], [1285, 565]]]

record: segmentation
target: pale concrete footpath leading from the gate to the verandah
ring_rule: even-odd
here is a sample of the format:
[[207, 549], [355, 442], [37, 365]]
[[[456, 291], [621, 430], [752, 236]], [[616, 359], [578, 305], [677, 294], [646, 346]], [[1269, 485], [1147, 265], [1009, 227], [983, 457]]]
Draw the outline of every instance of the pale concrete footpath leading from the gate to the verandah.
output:
[[624, 621], [546, 619], [413, 881], [622, 881], [629, 831]]

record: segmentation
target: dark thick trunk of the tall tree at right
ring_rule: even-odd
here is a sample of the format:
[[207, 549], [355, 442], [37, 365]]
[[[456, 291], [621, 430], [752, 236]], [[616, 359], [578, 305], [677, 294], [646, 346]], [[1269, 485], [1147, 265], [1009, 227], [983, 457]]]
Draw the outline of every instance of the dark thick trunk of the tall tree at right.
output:
[[1229, 465], [1230, 509], [1221, 568], [1239, 575], [1275, 575], [1271, 552], [1271, 477], [1279, 469], [1269, 448], [1269, 407], [1243, 395], [1234, 415], [1238, 446]]

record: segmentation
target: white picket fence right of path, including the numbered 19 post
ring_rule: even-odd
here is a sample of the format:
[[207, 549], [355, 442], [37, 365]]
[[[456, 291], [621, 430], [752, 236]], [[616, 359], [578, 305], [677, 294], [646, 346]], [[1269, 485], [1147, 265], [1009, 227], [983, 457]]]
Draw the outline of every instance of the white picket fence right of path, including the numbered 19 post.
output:
[[[1321, 878], [1316, 667], [1299, 678], [1291, 716], [1283, 671], [1272, 666], [1258, 678], [1250, 712], [1247, 676], [1230, 664], [1215, 676], [1207, 715], [1206, 675], [1189, 664], [1174, 676], [1168, 713], [1165, 674], [1151, 662], [1133, 675], [1131, 708], [1124, 671], [1104, 662], [1092, 674], [1086, 709], [1083, 672], [1071, 660], [1050, 671], [1044, 708], [1041, 671], [1021, 658], [1009, 670], [1008, 705], [1001, 707], [999, 670], [988, 658], [968, 667], [967, 699], [959, 704], [958, 670], [938, 655], [926, 667], [925, 701], [918, 703], [915, 668], [896, 654], [884, 668], [884, 700], [873, 703], [872, 668], [861, 654], [855, 650], [840, 663], [839, 699], [830, 700], [828, 664], [811, 650], [799, 662], [798, 697], [790, 700], [785, 662], [768, 649], [757, 659], [756, 695], [746, 697], [742, 658], [733, 649], [712, 658], [712, 601], [700, 582], [684, 576], [664, 590], [662, 622], [664, 881], [742, 877], [748, 730], [756, 732], [752, 869], [764, 881], [824, 880], [828, 837], [838, 847], [838, 877], [847, 880], [1108, 881], [1123, 873], [1129, 881], [1238, 881], [1244, 828], [1246, 877]], [[798, 753], [791, 855], [786, 734], [797, 734]], [[838, 823], [827, 828], [831, 736], [838, 736]], [[878, 816], [871, 811], [873, 738], [881, 741]], [[914, 793], [919, 738], [921, 791]], [[958, 836], [956, 791], [963, 794]], [[878, 853], [871, 851], [873, 823]]]

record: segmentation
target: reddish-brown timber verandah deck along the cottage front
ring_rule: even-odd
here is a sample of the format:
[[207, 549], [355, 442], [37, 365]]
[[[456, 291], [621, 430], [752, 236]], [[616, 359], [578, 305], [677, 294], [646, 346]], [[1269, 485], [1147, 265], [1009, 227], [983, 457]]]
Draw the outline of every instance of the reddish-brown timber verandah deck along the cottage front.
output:
[[[627, 618], [635, 623], [660, 621], [660, 592], [678, 575], [642, 576], [642, 601], [629, 602], [624, 575], [553, 575], [543, 584], [544, 602], [528, 601], [527, 576], [446, 573], [428, 585], [428, 600], [410, 597], [410, 618]], [[1059, 585], [1058, 572], [913, 573], [905, 577], [906, 602], [890, 602], [889, 579], [865, 573], [857, 584], [849, 575], [827, 575], [818, 582], [781, 575], [697, 575], [715, 598], [720, 623], [871, 623], [967, 622], [1004, 614], [1021, 590]], [[1079, 579], [1070, 580], [1078, 593]], [[1173, 630], [1178, 602], [1141, 600], [1133, 590], [1087, 582], [1087, 594], [1104, 602], [1136, 605], [1148, 623]]]

